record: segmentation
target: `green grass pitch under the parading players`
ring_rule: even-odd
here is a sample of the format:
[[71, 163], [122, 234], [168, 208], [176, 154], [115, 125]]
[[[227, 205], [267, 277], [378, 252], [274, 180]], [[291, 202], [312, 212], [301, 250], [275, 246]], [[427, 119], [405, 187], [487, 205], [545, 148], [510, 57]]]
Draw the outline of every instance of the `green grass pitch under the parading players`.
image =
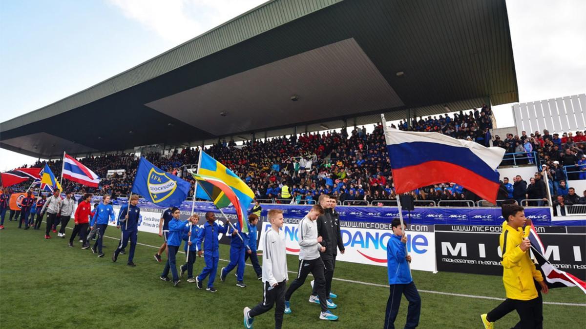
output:
[[[16, 222], [5, 221], [0, 231], [0, 328], [99, 327], [99, 328], [239, 328], [242, 309], [253, 307], [262, 300], [263, 288], [247, 266], [244, 282], [248, 287], [236, 287], [232, 273], [226, 282], [216, 278], [213, 294], [197, 289], [195, 283], [183, 278], [178, 287], [159, 279], [164, 263], [155, 262], [155, 248], [138, 245], [134, 262], [126, 265], [127, 255], [117, 263], [111, 254], [117, 239], [104, 240], [105, 257], [97, 258], [89, 249], [81, 250], [79, 242], [69, 248], [67, 238], [43, 239], [42, 231], [17, 229]], [[72, 227], [73, 223], [70, 223]], [[107, 237], [119, 237], [114, 227], [108, 227]], [[157, 235], [139, 233], [138, 242], [161, 245]], [[228, 246], [222, 245], [220, 258], [227, 259]], [[183, 253], [178, 259], [185, 259]], [[203, 258], [197, 258], [194, 271], [203, 268]], [[220, 266], [226, 262], [220, 261]], [[296, 270], [297, 257], [288, 256], [289, 270]], [[219, 272], [218, 272], [219, 273]], [[294, 274], [289, 277], [294, 279]], [[386, 285], [386, 268], [338, 262], [335, 277]], [[415, 285], [420, 290], [473, 294], [504, 298], [502, 280], [498, 276], [462, 273], [413, 271]], [[284, 328], [381, 328], [389, 288], [335, 280], [333, 292], [338, 309], [336, 322], [319, 320], [319, 306], [307, 300], [311, 293], [309, 278], [291, 299], [292, 314], [286, 314]], [[420, 292], [422, 299], [420, 328], [481, 328], [479, 314], [499, 304], [498, 300], [445, 296]], [[544, 301], [586, 304], [586, 296], [577, 288], [553, 289]], [[585, 328], [586, 307], [544, 304], [544, 328]], [[403, 299], [396, 321], [403, 327], [407, 301]], [[274, 326], [274, 313], [263, 314], [254, 321], [255, 328]], [[511, 313], [497, 324], [510, 328], [518, 320]]]

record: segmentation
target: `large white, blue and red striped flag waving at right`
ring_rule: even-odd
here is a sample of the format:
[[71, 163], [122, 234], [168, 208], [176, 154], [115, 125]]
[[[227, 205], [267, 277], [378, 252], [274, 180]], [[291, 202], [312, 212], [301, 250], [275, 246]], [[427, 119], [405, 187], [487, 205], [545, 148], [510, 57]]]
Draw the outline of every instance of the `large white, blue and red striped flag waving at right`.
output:
[[496, 203], [499, 173], [505, 149], [455, 139], [437, 132], [409, 132], [387, 128], [383, 119], [397, 194], [420, 187], [457, 183]]

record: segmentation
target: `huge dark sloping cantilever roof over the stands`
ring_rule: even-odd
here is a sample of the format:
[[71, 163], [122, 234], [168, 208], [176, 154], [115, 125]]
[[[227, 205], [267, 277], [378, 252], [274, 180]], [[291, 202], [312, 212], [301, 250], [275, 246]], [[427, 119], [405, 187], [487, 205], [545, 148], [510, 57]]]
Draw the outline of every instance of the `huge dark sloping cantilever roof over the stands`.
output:
[[[487, 101], [518, 101], [505, 0], [275, 0], [2, 122], [0, 147], [48, 157], [199, 145]], [[87, 116], [100, 119], [75, 124]]]

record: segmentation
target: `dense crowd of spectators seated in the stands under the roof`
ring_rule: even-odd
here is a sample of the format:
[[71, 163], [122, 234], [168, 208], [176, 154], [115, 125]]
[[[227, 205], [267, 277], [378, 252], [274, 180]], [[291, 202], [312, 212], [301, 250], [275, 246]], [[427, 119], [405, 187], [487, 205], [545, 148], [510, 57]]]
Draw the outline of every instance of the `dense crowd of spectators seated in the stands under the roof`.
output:
[[[575, 166], [580, 172], [572, 174], [581, 178], [584, 175], [583, 178], [586, 178], [584, 133], [578, 132], [575, 136], [568, 133], [558, 138], [557, 134], [552, 136], [547, 131], [543, 135], [536, 132], [530, 136], [523, 132], [522, 136], [508, 135], [505, 140], [500, 140], [499, 136], [494, 139], [490, 136], [492, 122], [490, 108], [483, 105], [481, 109], [469, 111], [468, 114], [461, 111], [453, 116], [428, 116], [413, 119], [411, 127], [403, 121], [398, 127], [392, 126], [401, 130], [440, 132], [454, 138], [474, 140], [485, 146], [489, 146], [492, 140], [494, 146], [505, 148], [507, 152], [536, 152], [537, 159], [529, 156], [526, 159], [543, 162], [548, 166], [550, 189], [556, 196], [561, 194], [557, 191], [563, 190], [565, 186], [562, 183], [566, 180], [563, 166]], [[529, 146], [524, 146], [526, 144]], [[520, 145], [523, 145], [523, 150], [517, 149]], [[205, 152], [244, 179], [260, 200], [308, 204], [315, 203], [319, 195], [325, 193], [338, 198], [342, 203], [353, 200], [355, 204], [369, 201], [370, 204], [382, 205], [396, 198], [380, 123], [374, 127], [372, 133], [367, 133], [363, 126], [355, 127], [350, 134], [346, 129], [341, 129], [340, 132], [302, 133], [288, 138], [247, 141], [241, 146], [236, 146], [233, 140], [224, 140], [205, 149]], [[161, 169], [190, 181], [190, 194], [193, 194], [195, 181], [183, 165], [197, 163], [199, 149], [185, 148], [167, 155], [149, 153], [143, 156]], [[111, 194], [113, 197], [130, 194], [138, 164], [134, 154], [90, 156], [81, 159], [81, 162], [102, 177], [100, 187], [87, 188], [64, 180], [64, 190]], [[44, 162], [33, 166], [42, 165]], [[62, 160], [50, 161], [49, 166], [55, 176], [60, 176]], [[125, 172], [107, 176], [110, 169], [123, 169]], [[519, 201], [525, 198], [544, 198], [541, 178], [537, 180], [537, 177], [532, 177], [530, 183], [524, 183], [522, 188], [524, 181], [517, 177], [514, 179], [517, 190], [514, 191], [513, 184], [507, 180], [502, 184], [503, 191], [499, 198], [508, 196]], [[287, 186], [285, 190], [284, 185]], [[570, 194], [569, 191], [567, 194]], [[417, 205], [437, 205], [440, 201], [450, 201], [442, 205], [466, 206], [469, 203], [464, 200], [479, 200], [473, 193], [454, 183], [424, 187], [411, 192], [411, 195], [418, 201]], [[537, 203], [541, 205], [541, 202]]]

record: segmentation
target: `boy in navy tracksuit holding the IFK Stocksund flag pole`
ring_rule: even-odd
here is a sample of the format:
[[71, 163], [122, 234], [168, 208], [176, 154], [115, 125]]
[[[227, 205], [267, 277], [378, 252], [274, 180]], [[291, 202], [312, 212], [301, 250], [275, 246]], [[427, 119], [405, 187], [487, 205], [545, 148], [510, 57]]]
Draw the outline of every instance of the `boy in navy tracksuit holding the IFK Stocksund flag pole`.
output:
[[130, 207], [128, 204], [122, 205], [120, 213], [118, 213], [118, 222], [116, 227], [122, 230], [122, 236], [120, 238], [120, 244], [112, 255], [112, 261], [118, 260], [120, 252], [128, 245], [128, 239], [130, 239], [130, 252], [128, 253], [128, 266], [136, 266], [132, 259], [134, 259], [134, 249], [137, 246], [138, 239], [138, 218], [141, 215], [141, 208], [137, 207], [138, 196], [132, 194], [130, 197]]

